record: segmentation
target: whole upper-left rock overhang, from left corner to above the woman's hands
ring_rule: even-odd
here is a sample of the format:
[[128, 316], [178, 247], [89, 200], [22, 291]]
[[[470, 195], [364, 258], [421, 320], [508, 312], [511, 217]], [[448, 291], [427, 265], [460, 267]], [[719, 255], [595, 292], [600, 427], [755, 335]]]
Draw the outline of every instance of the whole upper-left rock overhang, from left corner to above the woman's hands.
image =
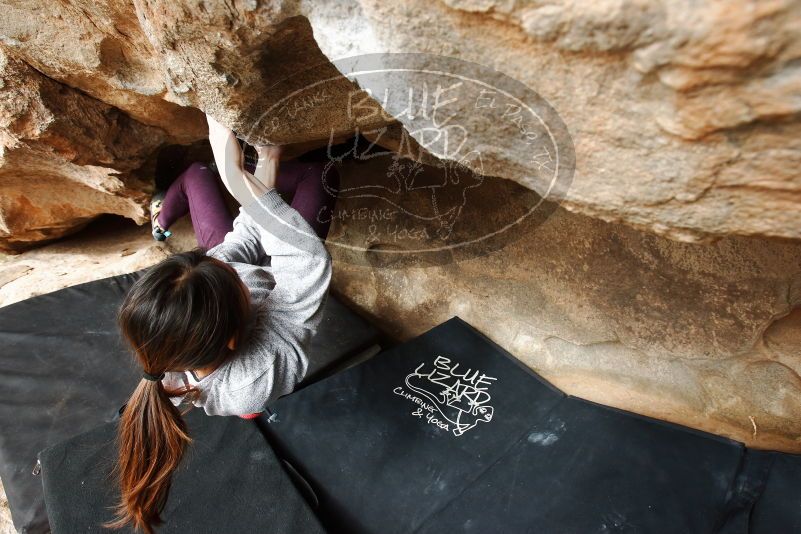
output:
[[[252, 141], [319, 141], [332, 126], [352, 130], [347, 95], [356, 88], [320, 52], [297, 2], [2, 4], [9, 51], [176, 141], [205, 135], [195, 108]], [[327, 78], [339, 80], [307, 95], [313, 102], [303, 109], [281, 105], [293, 90]], [[278, 128], [262, 117], [271, 108]]]

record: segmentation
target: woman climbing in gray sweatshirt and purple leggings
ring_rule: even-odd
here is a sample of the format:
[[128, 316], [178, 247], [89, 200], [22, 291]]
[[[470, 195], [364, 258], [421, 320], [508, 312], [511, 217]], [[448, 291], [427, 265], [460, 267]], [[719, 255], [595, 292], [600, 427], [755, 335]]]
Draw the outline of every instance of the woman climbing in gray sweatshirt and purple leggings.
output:
[[329, 193], [336, 171], [323, 176], [321, 164], [294, 161], [279, 172], [280, 149], [264, 146], [250, 172], [231, 130], [211, 117], [208, 123], [222, 183], [241, 208], [232, 219], [215, 173], [197, 163], [156, 206], [154, 231], [164, 233], [188, 212], [207, 250], [150, 268], [119, 312], [143, 373], [119, 423], [115, 528], [131, 524], [150, 534], [161, 523], [171, 474], [190, 441], [182, 403], [249, 418], [293, 390], [327, 297], [328, 226], [316, 215], [336, 200]]

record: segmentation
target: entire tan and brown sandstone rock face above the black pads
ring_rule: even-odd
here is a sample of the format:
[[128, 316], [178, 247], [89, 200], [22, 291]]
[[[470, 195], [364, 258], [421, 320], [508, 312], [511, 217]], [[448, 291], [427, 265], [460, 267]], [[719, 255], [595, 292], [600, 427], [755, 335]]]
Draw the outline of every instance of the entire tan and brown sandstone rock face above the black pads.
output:
[[[366, 87], [340, 74], [358, 65], [328, 60], [391, 51], [472, 62], [497, 73], [481, 71], [488, 87], [510, 77], [558, 112], [575, 152], [569, 187], [548, 193], [561, 207], [545, 205], [552, 217], [526, 219], [480, 253], [421, 256], [409, 254], [420, 236], [408, 229], [370, 237], [378, 200], [346, 198], [359, 209], [338, 218], [334, 241], [361, 248], [335, 247], [337, 290], [399, 337], [458, 314], [571, 393], [801, 450], [798, 1], [0, 8], [3, 248], [101, 213], [145, 222], [154, 153], [202, 139], [202, 111], [254, 143], [315, 146], [389, 127], [367, 137], [397, 150], [410, 137], [438, 155], [420, 115], [381, 113], [380, 92], [365, 100]], [[388, 80], [403, 94], [421, 78]], [[355, 101], [375, 113], [356, 120]], [[532, 149], [508, 142], [521, 133], [514, 113], [496, 108], [487, 121], [467, 102], [452, 109], [487, 177], [453, 182], [473, 188], [462, 201], [477, 195], [463, 214], [451, 206], [464, 222], [454, 231], [546, 193]], [[411, 196], [433, 187], [403, 185]], [[420, 218], [442, 215], [439, 200], [420, 202], [409, 199]], [[14, 269], [9, 285], [27, 273]]]

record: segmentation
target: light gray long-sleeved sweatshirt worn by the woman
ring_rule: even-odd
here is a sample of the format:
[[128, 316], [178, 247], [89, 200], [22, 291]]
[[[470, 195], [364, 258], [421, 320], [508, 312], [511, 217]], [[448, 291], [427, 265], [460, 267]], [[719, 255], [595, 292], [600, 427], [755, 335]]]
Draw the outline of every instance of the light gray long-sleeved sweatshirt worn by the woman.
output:
[[[164, 385], [194, 386], [192, 403], [208, 415], [261, 412], [306, 374], [328, 296], [331, 256], [275, 189], [240, 208], [233, 231], [207, 254], [237, 271], [250, 290], [253, 313], [231, 359], [200, 380], [168, 372]], [[183, 401], [173, 399], [176, 405]]]

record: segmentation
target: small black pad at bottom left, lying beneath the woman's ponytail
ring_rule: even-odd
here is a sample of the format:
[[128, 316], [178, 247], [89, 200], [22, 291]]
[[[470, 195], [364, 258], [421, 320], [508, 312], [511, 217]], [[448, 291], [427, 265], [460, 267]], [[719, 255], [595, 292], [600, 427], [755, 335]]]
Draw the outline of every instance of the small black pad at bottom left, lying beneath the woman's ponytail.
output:
[[[200, 410], [186, 419], [194, 441], [173, 476], [157, 532], [324, 532], [252, 421]], [[119, 495], [111, 474], [116, 429], [107, 423], [41, 453], [54, 534], [109, 532], [102, 525], [113, 519]]]

